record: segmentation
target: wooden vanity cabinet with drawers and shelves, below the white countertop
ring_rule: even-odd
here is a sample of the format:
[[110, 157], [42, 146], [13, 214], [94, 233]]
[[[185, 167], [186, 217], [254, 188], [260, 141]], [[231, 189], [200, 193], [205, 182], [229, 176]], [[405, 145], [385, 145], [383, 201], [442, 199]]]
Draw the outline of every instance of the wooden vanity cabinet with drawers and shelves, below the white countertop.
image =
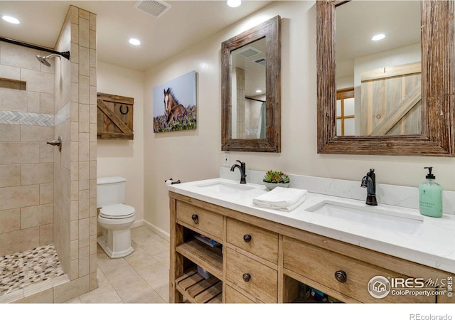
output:
[[[169, 192], [169, 302], [301, 302], [301, 286], [349, 303], [453, 303], [447, 295], [372, 297], [368, 282], [455, 277], [424, 265], [350, 245], [246, 213]], [[195, 215], [197, 217], [195, 217]], [[200, 233], [220, 242], [208, 247]], [[211, 276], [205, 279], [196, 270]], [[436, 288], [435, 288], [436, 290]]]

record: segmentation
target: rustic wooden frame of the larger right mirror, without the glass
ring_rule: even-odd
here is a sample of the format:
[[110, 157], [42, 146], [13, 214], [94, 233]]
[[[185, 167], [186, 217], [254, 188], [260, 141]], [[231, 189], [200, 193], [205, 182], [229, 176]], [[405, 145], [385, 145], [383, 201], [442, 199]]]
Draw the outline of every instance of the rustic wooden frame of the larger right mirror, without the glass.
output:
[[318, 153], [455, 156], [454, 1], [420, 1], [419, 132], [343, 136], [336, 128], [336, 8], [349, 2], [316, 1]]

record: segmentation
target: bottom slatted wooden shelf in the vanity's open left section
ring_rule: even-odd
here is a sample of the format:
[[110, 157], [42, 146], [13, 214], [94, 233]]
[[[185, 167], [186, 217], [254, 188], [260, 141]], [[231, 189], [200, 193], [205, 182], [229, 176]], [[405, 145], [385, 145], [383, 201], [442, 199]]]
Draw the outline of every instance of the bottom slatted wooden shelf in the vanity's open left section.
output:
[[176, 289], [192, 303], [223, 303], [223, 282], [210, 276], [205, 279], [192, 267], [176, 279]]

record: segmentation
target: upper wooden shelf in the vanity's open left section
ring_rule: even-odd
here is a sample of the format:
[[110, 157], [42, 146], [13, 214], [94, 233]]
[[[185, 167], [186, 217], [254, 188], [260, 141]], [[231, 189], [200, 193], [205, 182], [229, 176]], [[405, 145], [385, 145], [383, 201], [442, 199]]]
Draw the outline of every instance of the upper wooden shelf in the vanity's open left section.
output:
[[223, 256], [218, 247], [208, 247], [198, 240], [191, 240], [176, 247], [176, 252], [196, 263], [218, 279], [223, 278]]

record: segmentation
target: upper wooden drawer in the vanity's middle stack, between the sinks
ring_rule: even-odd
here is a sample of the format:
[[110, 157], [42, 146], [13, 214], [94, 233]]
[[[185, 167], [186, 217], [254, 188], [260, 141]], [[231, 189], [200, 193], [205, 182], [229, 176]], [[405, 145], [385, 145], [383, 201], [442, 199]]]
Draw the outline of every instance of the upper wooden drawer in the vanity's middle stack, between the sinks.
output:
[[278, 234], [235, 219], [228, 219], [226, 240], [236, 247], [278, 263]]

